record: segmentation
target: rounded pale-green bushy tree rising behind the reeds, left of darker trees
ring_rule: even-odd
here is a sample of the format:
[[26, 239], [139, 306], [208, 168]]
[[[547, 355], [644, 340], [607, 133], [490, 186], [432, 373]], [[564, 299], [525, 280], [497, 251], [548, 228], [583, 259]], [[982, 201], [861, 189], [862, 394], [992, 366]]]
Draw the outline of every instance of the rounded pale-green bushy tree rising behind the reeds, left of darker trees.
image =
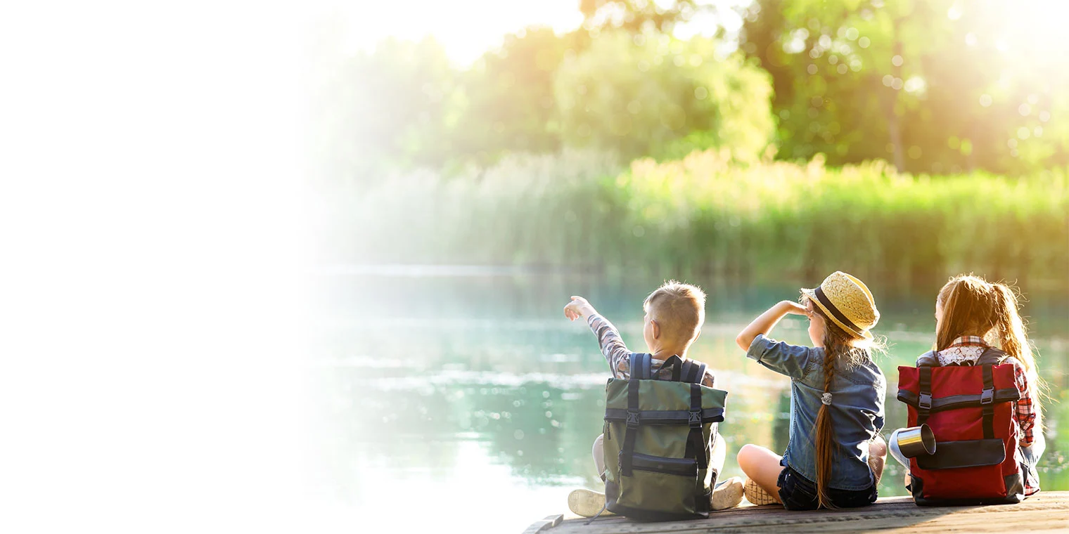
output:
[[654, 32], [602, 35], [557, 72], [563, 142], [629, 158], [678, 155], [682, 142], [756, 160], [774, 129], [768, 75], [715, 48]]

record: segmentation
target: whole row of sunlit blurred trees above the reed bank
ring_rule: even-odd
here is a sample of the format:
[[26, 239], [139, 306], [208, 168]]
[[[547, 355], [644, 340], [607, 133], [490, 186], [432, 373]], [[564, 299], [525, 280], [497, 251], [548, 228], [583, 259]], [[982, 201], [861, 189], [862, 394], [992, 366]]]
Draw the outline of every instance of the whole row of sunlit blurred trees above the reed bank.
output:
[[[387, 40], [329, 64], [313, 125], [323, 174], [366, 185], [391, 169], [458, 170], [564, 145], [749, 156], [773, 121], [780, 159], [887, 159], [935, 174], [1069, 164], [1069, 40], [1043, 31], [1051, 25], [1007, 25], [1034, 14], [1009, 0], [578, 7], [582, 28], [521, 30], [467, 67], [432, 40]], [[717, 27], [732, 7], [738, 37]], [[670, 36], [695, 23], [717, 37]]]

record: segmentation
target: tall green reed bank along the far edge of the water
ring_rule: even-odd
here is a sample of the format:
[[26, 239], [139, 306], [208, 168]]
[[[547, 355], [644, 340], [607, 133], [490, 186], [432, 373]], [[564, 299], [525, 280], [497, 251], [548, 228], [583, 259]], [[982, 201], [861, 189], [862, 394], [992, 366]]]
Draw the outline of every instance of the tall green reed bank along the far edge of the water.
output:
[[1064, 280], [1069, 175], [912, 176], [882, 161], [733, 166], [715, 153], [621, 169], [591, 153], [400, 176], [335, 199], [326, 258], [538, 264], [680, 276], [909, 282], [975, 271]]

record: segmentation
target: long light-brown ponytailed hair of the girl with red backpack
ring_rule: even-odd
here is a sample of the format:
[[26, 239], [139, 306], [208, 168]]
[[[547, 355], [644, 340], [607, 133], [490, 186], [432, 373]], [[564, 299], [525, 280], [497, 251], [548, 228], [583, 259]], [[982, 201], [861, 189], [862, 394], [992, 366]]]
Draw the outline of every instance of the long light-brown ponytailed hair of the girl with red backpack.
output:
[[989, 283], [973, 274], [951, 278], [935, 300], [943, 309], [942, 320], [935, 328], [935, 350], [945, 350], [962, 335], [994, 334], [1000, 348], [1024, 366], [1028, 379], [1028, 396], [1036, 407], [1036, 429], [1042, 429], [1040, 391], [1044, 382], [1036, 368], [1036, 357], [1024, 321], [1018, 313], [1017, 296], [1007, 285]]

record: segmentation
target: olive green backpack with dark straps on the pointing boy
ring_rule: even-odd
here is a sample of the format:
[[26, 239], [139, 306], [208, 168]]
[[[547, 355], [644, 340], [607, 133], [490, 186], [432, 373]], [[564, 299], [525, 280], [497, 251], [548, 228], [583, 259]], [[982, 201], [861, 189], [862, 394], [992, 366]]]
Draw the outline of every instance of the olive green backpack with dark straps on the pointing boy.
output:
[[636, 519], [707, 518], [727, 392], [701, 384], [704, 363], [678, 356], [664, 364], [672, 379], [657, 380], [650, 358], [632, 355], [631, 378], [605, 387], [605, 507]]

